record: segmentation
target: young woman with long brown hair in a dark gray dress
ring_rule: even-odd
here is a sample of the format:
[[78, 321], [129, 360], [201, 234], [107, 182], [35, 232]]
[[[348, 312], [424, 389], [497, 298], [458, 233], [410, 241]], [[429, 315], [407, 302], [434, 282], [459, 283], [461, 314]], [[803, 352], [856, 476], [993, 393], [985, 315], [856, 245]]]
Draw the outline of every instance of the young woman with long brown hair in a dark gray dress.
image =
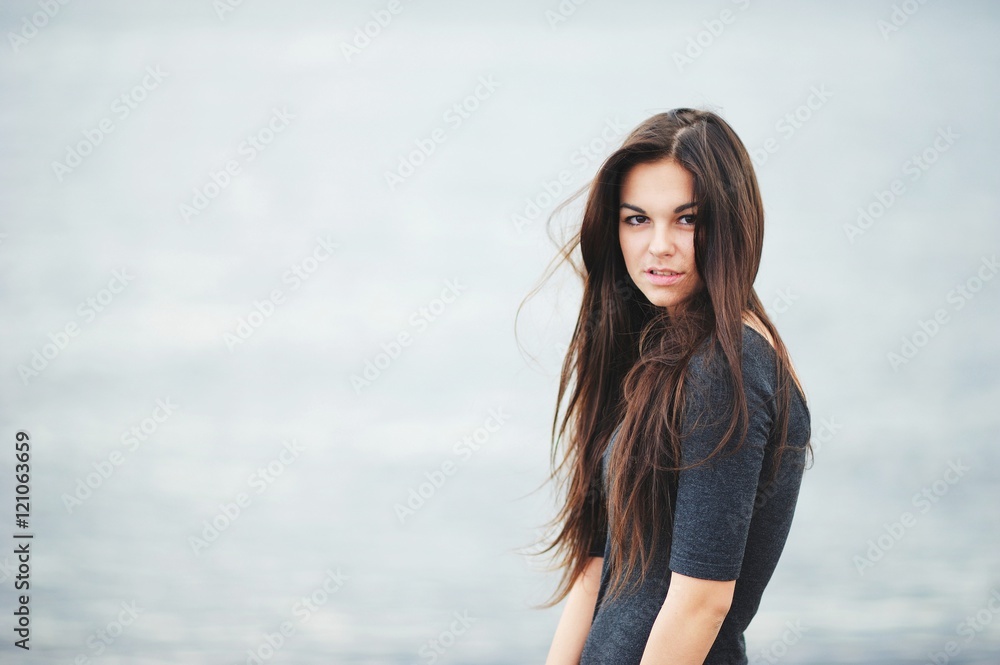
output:
[[542, 607], [566, 598], [549, 665], [748, 662], [811, 452], [753, 288], [763, 236], [746, 148], [709, 111], [649, 118], [589, 187], [561, 252], [579, 244], [584, 293], [558, 437], [553, 420], [566, 503], [540, 552], [563, 570]]

